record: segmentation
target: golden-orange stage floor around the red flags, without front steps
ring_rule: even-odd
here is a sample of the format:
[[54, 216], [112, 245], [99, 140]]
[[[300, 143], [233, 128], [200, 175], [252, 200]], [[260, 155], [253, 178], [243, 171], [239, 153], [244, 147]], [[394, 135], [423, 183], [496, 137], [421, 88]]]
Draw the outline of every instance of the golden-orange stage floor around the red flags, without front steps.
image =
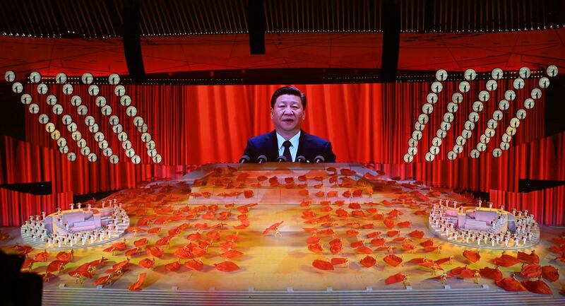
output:
[[[463, 257], [463, 251], [471, 248], [441, 240], [439, 237], [435, 237], [434, 233], [428, 229], [427, 213], [422, 213], [422, 211], [429, 211], [430, 205], [427, 201], [424, 201], [425, 198], [434, 203], [439, 199], [439, 196], [442, 199], [456, 199], [459, 203], [465, 201], [459, 194], [448, 190], [433, 189], [430, 192], [428, 187], [421, 184], [390, 180], [386, 175], [379, 175], [359, 164], [307, 165], [293, 170], [285, 169], [280, 167], [280, 165], [270, 165], [270, 168], [267, 167], [267, 170], [264, 168], [260, 170], [255, 165], [236, 166], [239, 168], [228, 168], [227, 165], [219, 165], [219, 167], [221, 170], [215, 170], [215, 166], [208, 165], [201, 168], [201, 170], [185, 175], [179, 180], [153, 182], [142, 188], [124, 190], [109, 196], [108, 199], [119, 199], [119, 202], [124, 203], [124, 208], [129, 213], [132, 226], [136, 226], [140, 219], [143, 218], [141, 220], [142, 225], [139, 226], [142, 230], [137, 233], [126, 233], [124, 235], [127, 249], [132, 249], [133, 242], [136, 240], [147, 238], [147, 246], [153, 246], [157, 240], [172, 234], [169, 245], [163, 246], [164, 254], [162, 257], [155, 257], [148, 254], [145, 251], [145, 247], [141, 247], [138, 254], [133, 254], [129, 257], [125, 256], [126, 251], [124, 250], [114, 254], [103, 252], [102, 250], [109, 247], [111, 243], [85, 249], [74, 249], [73, 261], [66, 264], [61, 273], [50, 278], [49, 283], [44, 284], [44, 292], [49, 293], [49, 297], [51, 297], [44, 301], [45, 304], [49, 304], [49, 301], [57, 301], [57, 299], [53, 300], [52, 296], [55, 298], [58, 294], [62, 296], [66, 294], [62, 293], [64, 290], [67, 290], [67, 292], [73, 290], [77, 295], [80, 295], [81, 289], [84, 289], [85, 293], [87, 291], [92, 292], [91, 290], [96, 288], [95, 280], [101, 276], [106, 276], [105, 270], [111, 269], [113, 264], [124, 261], [126, 258], [130, 259], [127, 266], [129, 271], [115, 278], [111, 286], [99, 288], [95, 293], [104, 294], [105, 290], [107, 290], [107, 294], [111, 293], [110, 290], [122, 291], [135, 283], [140, 273], [146, 273], [145, 281], [141, 284], [141, 291], [136, 292], [137, 294], [143, 292], [148, 294], [155, 292], [154, 290], [159, 290], [163, 293], [171, 292], [171, 290], [175, 292], [198, 291], [208, 293], [227, 291], [240, 293], [263, 291], [285, 293], [301, 291], [370, 293], [371, 290], [394, 290], [398, 295], [405, 295], [408, 292], [405, 290], [402, 282], [391, 285], [385, 283], [386, 278], [389, 276], [402, 273], [410, 278], [411, 292], [417, 290], [443, 290], [439, 291], [439, 293], [445, 292], [448, 295], [450, 290], [445, 290], [438, 279], [432, 278], [431, 270], [417, 264], [410, 264], [408, 261], [421, 257], [436, 260], [453, 254], [455, 259], [451, 264], [448, 262], [441, 264], [444, 270], [450, 271], [453, 268], [465, 266], [465, 264], [468, 264], [470, 269], [481, 269], [486, 266], [494, 268], [492, 260], [500, 257], [502, 254], [502, 250], [473, 249], [480, 252], [480, 260], [476, 263], [471, 263]], [[328, 167], [330, 167], [329, 171]], [[331, 171], [333, 170], [331, 167], [336, 167], [338, 174], [341, 169], [354, 170], [355, 174], [347, 172], [345, 172], [345, 175], [339, 174], [337, 176], [338, 183], [342, 184], [338, 186], [336, 182], [333, 182], [335, 179], [332, 179], [332, 177], [335, 177], [335, 175], [333, 175], [334, 172]], [[365, 175], [366, 173], [369, 174]], [[258, 177], [261, 175], [271, 180], [259, 182]], [[278, 178], [277, 182], [275, 182], [275, 179], [272, 179], [273, 176]], [[291, 177], [292, 180], [290, 179]], [[205, 178], [203, 185], [193, 187], [191, 189], [193, 195], [188, 196], [189, 189], [187, 186], [192, 186], [195, 180], [196, 185], [200, 184], [198, 180], [202, 178]], [[259, 179], [262, 178], [259, 177]], [[346, 184], [350, 180], [355, 182]], [[270, 184], [270, 182], [273, 183]], [[368, 187], [371, 187], [372, 191], [367, 189]], [[361, 196], [347, 194], [347, 192], [353, 193], [359, 189], [362, 190]], [[244, 190], [251, 190], [252, 195], [250, 192], [248, 194], [239, 194], [238, 196], [230, 194], [231, 192], [243, 192]], [[196, 194], [205, 194], [206, 192], [210, 192], [210, 197], [206, 198]], [[336, 192], [335, 196], [331, 192]], [[222, 196], [220, 193], [227, 195]], [[329, 205], [326, 205], [328, 202], [324, 203], [324, 201], [329, 201]], [[473, 202], [471, 199], [467, 201], [468, 203]], [[310, 204], [307, 205], [307, 202], [310, 202]], [[237, 210], [238, 207], [243, 205], [255, 203], [258, 205], [250, 206], [249, 213], [242, 213], [245, 211]], [[342, 203], [343, 206], [340, 206]], [[352, 203], [354, 204], [350, 206]], [[217, 209], [210, 208], [210, 205], [213, 204], [218, 205]], [[235, 205], [233, 208], [230, 208], [229, 204]], [[356, 204], [359, 204], [361, 209], [355, 209]], [[228, 207], [225, 207], [226, 205]], [[100, 206], [100, 201], [97, 201], [95, 206]], [[201, 211], [195, 209], [198, 206], [201, 207]], [[335, 212], [340, 208], [347, 212], [347, 217], [342, 216], [338, 218]], [[382, 214], [386, 218], [387, 216], [392, 216], [389, 213], [394, 209], [400, 211], [401, 215], [392, 218], [395, 225], [392, 228], [387, 228], [383, 220], [379, 220], [379, 217], [376, 215]], [[352, 211], [359, 210], [362, 210], [363, 213], [352, 216]], [[228, 211], [229, 213], [227, 213]], [[312, 213], [319, 219], [316, 219], [317, 222], [310, 221], [310, 223], [307, 223], [308, 220], [312, 220]], [[243, 219], [243, 217], [238, 218], [238, 216], [244, 214], [247, 215], [246, 218], [249, 220], [249, 226], [240, 229], [234, 228], [234, 226], [242, 224], [242, 220], [239, 218]], [[222, 217], [225, 220], [218, 220], [219, 216], [227, 217]], [[303, 218], [303, 216], [309, 216], [309, 218]], [[169, 218], [167, 219], [167, 217]], [[143, 225], [145, 219], [150, 220], [148, 225]], [[163, 220], [165, 220], [164, 223], [162, 223]], [[284, 221], [278, 227], [280, 235], [277, 235], [275, 230], [263, 235], [263, 231], [266, 228], [280, 221]], [[406, 224], [404, 223], [406, 221], [411, 223], [410, 228], [398, 227], [398, 223]], [[183, 223], [188, 224], [188, 227], [177, 230], [178, 234], [169, 233], [169, 230], [178, 228]], [[206, 229], [206, 225], [203, 225], [204, 223], [208, 225], [208, 229]], [[225, 224], [218, 228], [211, 228], [218, 223]], [[355, 225], [357, 223], [360, 226], [365, 225], [364, 228], [359, 228], [359, 226]], [[158, 233], [149, 234], [146, 232], [146, 230], [157, 227], [161, 228]], [[201, 230], [197, 228], [201, 228]], [[335, 233], [333, 235], [320, 233], [317, 236], [321, 237], [320, 242], [323, 248], [321, 252], [316, 251], [319, 253], [316, 254], [309, 250], [307, 240], [312, 235], [304, 228], [316, 228], [317, 230], [333, 229]], [[540, 243], [533, 248], [522, 250], [522, 252], [529, 253], [535, 249], [535, 253], [540, 257], [540, 266], [551, 265], [557, 268], [560, 274], [564, 273], [565, 263], [554, 260], [558, 257], [557, 254], [548, 250], [549, 247], [554, 245], [552, 240], [560, 237], [564, 229], [547, 226], [541, 226], [540, 228], [542, 235]], [[357, 230], [359, 233], [354, 235], [352, 232], [347, 232], [350, 230]], [[391, 230], [400, 230], [400, 233], [399, 235], [388, 237], [386, 234]], [[408, 233], [414, 230], [422, 231], [424, 237], [410, 237]], [[184, 266], [184, 263], [189, 259], [179, 259], [175, 256], [174, 252], [178, 249], [191, 241], [197, 242], [196, 240], [187, 239], [189, 238], [187, 236], [200, 233], [200, 241], [203, 241], [207, 239], [206, 233], [213, 231], [217, 231], [219, 240], [213, 241], [212, 245], [206, 250], [206, 254], [198, 257], [203, 263], [201, 271], [195, 271]], [[395, 247], [393, 253], [401, 257], [405, 264], [395, 267], [383, 261], [383, 257], [388, 255], [388, 250], [382, 249], [382, 247], [379, 250], [379, 247], [371, 245], [371, 239], [367, 237], [369, 233], [374, 233], [375, 231], [382, 233], [375, 237], [382, 237], [385, 240], [384, 245]], [[3, 228], [2, 232], [9, 233], [13, 239], [2, 242], [2, 245], [0, 245], [1, 249], [8, 253], [16, 252], [12, 246], [16, 243], [22, 243], [19, 229]], [[232, 249], [236, 249], [243, 254], [234, 259], [220, 257], [220, 254], [226, 250], [222, 249], [220, 244], [226, 242], [227, 235], [234, 235], [236, 233], [239, 235], [239, 242], [234, 242]], [[210, 237], [214, 236], [208, 235], [208, 238]], [[398, 241], [401, 239], [399, 237], [406, 237], [408, 240]], [[328, 245], [328, 242], [335, 238], [340, 238], [343, 241], [343, 251], [337, 255], [331, 254]], [[395, 238], [399, 239], [395, 241]], [[359, 240], [364, 240], [364, 245], [369, 247], [369, 255], [376, 258], [377, 266], [367, 268], [360, 263], [364, 257], [367, 257], [367, 254], [359, 251], [357, 246], [350, 246], [352, 242]], [[433, 240], [434, 245], [441, 246], [441, 252], [426, 252], [424, 247], [420, 246], [420, 242], [426, 240]], [[415, 249], [412, 251], [405, 249], [403, 244], [407, 243], [414, 245]], [[34, 257], [39, 252], [42, 252], [42, 250], [35, 249], [28, 256]], [[516, 257], [516, 251], [506, 251], [506, 254]], [[49, 252], [47, 261], [35, 263], [32, 272], [44, 273], [47, 264], [53, 261], [56, 255], [57, 252], [55, 251]], [[224, 255], [227, 256], [226, 254]], [[81, 264], [100, 259], [101, 257], [109, 260], [105, 266], [97, 269], [93, 278], [87, 278], [84, 283], [80, 284], [76, 281], [76, 278], [69, 276], [68, 273], [81, 266]], [[316, 259], [330, 261], [333, 257], [346, 258], [348, 263], [337, 265], [331, 271], [316, 269], [312, 265]], [[155, 259], [155, 265], [150, 269], [138, 265], [143, 259]], [[215, 264], [220, 264], [225, 260], [237, 264], [239, 269], [231, 272], [215, 269]], [[165, 266], [166, 264], [174, 264], [174, 262], [179, 262], [180, 264], [177, 270], [172, 265]], [[173, 271], [169, 271], [167, 267]], [[527, 280], [520, 276], [521, 263], [509, 267], [501, 266], [499, 269], [504, 277], [517, 273], [516, 279], [518, 281]], [[439, 276], [439, 274], [441, 274], [441, 271], [438, 271], [436, 275]], [[553, 295], [524, 293], [525, 295], [522, 294], [521, 296], [525, 298], [527, 295], [528, 299], [537, 297], [540, 305], [548, 305], [548, 303], [552, 305], [565, 305], [564, 295], [559, 294], [563, 290], [562, 280], [562, 276], [553, 283], [544, 279], [545, 283], [551, 288]], [[65, 288], [61, 288], [61, 284], [64, 284]], [[465, 289], [470, 290], [469, 293], [477, 292], [477, 290], [486, 290], [482, 292], [496, 294], [502, 290], [496, 286], [494, 281], [488, 278], [480, 278], [479, 284], [476, 284], [473, 278], [463, 279], [455, 276], [448, 278], [448, 285], [451, 286], [451, 293], [462, 292], [460, 295], [462, 298], [465, 298]], [[514, 293], [505, 292], [505, 294], [509, 297], [509, 301], [511, 296], [515, 296]], [[477, 301], [482, 299], [481, 294], [476, 296], [479, 299]], [[484, 297], [484, 295], [482, 296]], [[547, 300], [548, 298], [550, 300]], [[67, 299], [67, 301], [72, 301], [72, 299]], [[59, 300], [60, 302], [61, 300]], [[127, 304], [127, 302], [124, 303]], [[139, 303], [136, 302], [136, 305], [140, 305]], [[194, 300], [191, 303], [194, 303]], [[336, 303], [347, 304], [348, 302], [341, 300], [341, 302], [338, 301]], [[408, 303], [410, 302], [403, 302], [403, 304]], [[488, 303], [483, 302], [482, 305], [487, 305]], [[536, 302], [533, 303], [537, 304]], [[425, 303], [420, 302], [420, 304]], [[450, 305], [451, 302], [446, 300], [445, 303], [441, 304]], [[506, 303], [503, 301], [493, 305], [506, 305]], [[529, 305], [532, 305], [532, 302]]]

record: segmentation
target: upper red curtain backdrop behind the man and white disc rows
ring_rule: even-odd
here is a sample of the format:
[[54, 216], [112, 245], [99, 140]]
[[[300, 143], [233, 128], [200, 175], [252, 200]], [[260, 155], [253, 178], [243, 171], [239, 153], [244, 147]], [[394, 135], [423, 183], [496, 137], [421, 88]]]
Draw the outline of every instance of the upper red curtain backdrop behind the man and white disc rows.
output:
[[[537, 82], [528, 79], [525, 89], [517, 90], [516, 100], [504, 112], [499, 122], [496, 135], [491, 140], [487, 152], [501, 141], [501, 134], [509, 125], [516, 110], [523, 108], [523, 100], [530, 95], [531, 88]], [[441, 153], [436, 159], [446, 160], [446, 155], [453, 148], [453, 141], [463, 130], [463, 124], [471, 111], [471, 105], [480, 90], [484, 90], [486, 81], [472, 81], [469, 93], [463, 94], [463, 102], [456, 112], [456, 119], [441, 146]], [[504, 98], [504, 91], [512, 88], [512, 79], [499, 81], [499, 89], [491, 93], [491, 98], [484, 103], [480, 121], [473, 131], [473, 137], [465, 145], [463, 156], [478, 142], [478, 136], [487, 127], [488, 119], [497, 109], [499, 100]], [[444, 83], [444, 90], [439, 93], [439, 102], [434, 105], [430, 122], [424, 129], [415, 161], [424, 161], [425, 152], [432, 145], [431, 140], [439, 129], [446, 112], [446, 105], [451, 95], [456, 92], [458, 82]], [[230, 163], [239, 160], [247, 139], [273, 129], [270, 121], [270, 96], [280, 86], [127, 86], [126, 91], [132, 98], [132, 105], [138, 107], [138, 114], [145, 119], [150, 134], [157, 143], [157, 151], [162, 155], [164, 165], [191, 165], [203, 163]], [[297, 86], [306, 93], [309, 100], [304, 122], [304, 129], [332, 141], [338, 161], [369, 161], [376, 163], [403, 163], [403, 155], [408, 148], [408, 139], [414, 130], [418, 114], [430, 92], [430, 82], [408, 82], [389, 84], [336, 84]], [[125, 114], [126, 107], [119, 104], [113, 93], [114, 86], [101, 86], [101, 93], [108, 100], [113, 113], [117, 114], [124, 131], [129, 135], [133, 148], [141, 156], [142, 163], [151, 163], [140, 139], [141, 134], [133, 126], [133, 118]], [[529, 88], [529, 89], [528, 89]], [[45, 102], [45, 95], [39, 95], [35, 86], [26, 86], [26, 92], [32, 93], [33, 100], [40, 105], [40, 113], [49, 114], [51, 122], [66, 139], [70, 133], [61, 122], [62, 114], [56, 116]], [[120, 160], [126, 160], [124, 150], [119, 146], [116, 135], [112, 132], [107, 116], [102, 116], [100, 108], [95, 106], [95, 97], [86, 93], [87, 86], [74, 86], [73, 95], [83, 99], [88, 106], [88, 114], [95, 117], [101, 131], [107, 136], [112, 151], [118, 152]], [[83, 138], [90, 148], [95, 148], [93, 134], [84, 124], [84, 116], [79, 116], [76, 107], [70, 104], [72, 95], [63, 95], [61, 86], [50, 85], [49, 93], [57, 96], [64, 107], [64, 114], [70, 114], [78, 124]], [[49, 138], [42, 124], [37, 121], [37, 114], [26, 115], [26, 137], [31, 143], [49, 148], [57, 148], [55, 141]], [[528, 117], [518, 127], [513, 145], [542, 138], [545, 126], [545, 101], [537, 100], [533, 110], [528, 110]], [[78, 148], [70, 141], [71, 151]], [[101, 151], [97, 155], [103, 162]], [[490, 155], [490, 153], [486, 153]]]

